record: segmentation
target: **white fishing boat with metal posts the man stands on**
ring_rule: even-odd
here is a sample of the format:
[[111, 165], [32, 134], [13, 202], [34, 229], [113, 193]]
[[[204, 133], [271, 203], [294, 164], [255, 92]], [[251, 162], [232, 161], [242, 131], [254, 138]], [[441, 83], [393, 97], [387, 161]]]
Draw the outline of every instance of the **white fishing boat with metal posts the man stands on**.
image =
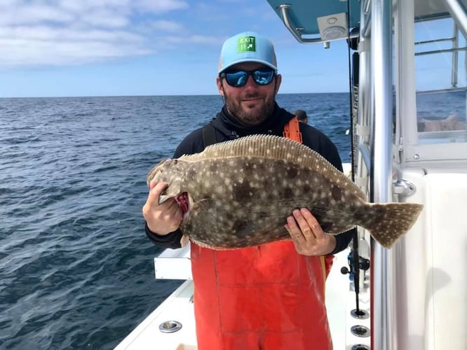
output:
[[[353, 181], [371, 202], [424, 204], [393, 248], [358, 228], [336, 255], [334, 349], [467, 349], [466, 0], [268, 2], [290, 40], [348, 43]], [[154, 265], [183, 283], [115, 349], [194, 350], [189, 250]]]

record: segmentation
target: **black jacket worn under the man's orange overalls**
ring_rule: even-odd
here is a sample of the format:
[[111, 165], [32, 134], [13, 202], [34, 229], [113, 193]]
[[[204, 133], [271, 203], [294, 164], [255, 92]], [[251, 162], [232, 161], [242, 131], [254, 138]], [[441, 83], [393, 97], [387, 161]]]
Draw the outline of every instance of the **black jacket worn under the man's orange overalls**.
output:
[[[210, 125], [214, 127], [216, 142], [222, 142], [252, 134], [272, 134], [282, 136], [285, 125], [293, 117], [293, 114], [285, 111], [285, 109], [281, 109], [278, 104], [276, 104], [271, 118], [260, 125], [251, 127], [244, 125], [239, 120], [236, 120], [236, 118], [230, 116], [224, 106], [222, 111], [217, 113], [215, 118], [212, 118]], [[330, 139], [328, 139], [323, 132], [320, 132], [310, 125], [299, 123], [299, 127], [300, 132], [302, 132], [303, 144], [320, 153], [320, 155], [323, 155], [328, 162], [342, 171], [341, 158], [339, 157], [336, 146], [332, 144]], [[202, 152], [204, 148], [203, 127], [201, 127], [185, 137], [182, 143], [175, 150], [173, 158], [179, 158], [184, 154], [188, 155], [199, 153]], [[352, 232], [353, 230], [350, 230], [336, 236], [337, 244], [334, 251], [332, 251], [332, 254], [338, 253], [348, 246], [348, 243], [352, 239]], [[180, 230], [161, 236], [151, 232], [146, 225], [146, 234], [147, 237], [156, 244], [156, 246], [161, 246], [163, 248], [180, 248], [180, 239], [182, 238], [182, 232]]]

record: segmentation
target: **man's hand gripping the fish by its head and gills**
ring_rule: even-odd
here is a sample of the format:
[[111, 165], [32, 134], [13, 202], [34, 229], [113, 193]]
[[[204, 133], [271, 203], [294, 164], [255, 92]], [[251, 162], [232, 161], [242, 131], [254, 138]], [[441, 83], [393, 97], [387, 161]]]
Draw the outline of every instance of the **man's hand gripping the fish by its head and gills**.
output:
[[142, 207], [147, 227], [158, 235], [168, 235], [170, 232], [177, 230], [183, 219], [182, 209], [178, 206], [175, 198], [170, 198], [159, 204], [159, 196], [167, 186], [167, 183], [151, 181], [149, 195]]

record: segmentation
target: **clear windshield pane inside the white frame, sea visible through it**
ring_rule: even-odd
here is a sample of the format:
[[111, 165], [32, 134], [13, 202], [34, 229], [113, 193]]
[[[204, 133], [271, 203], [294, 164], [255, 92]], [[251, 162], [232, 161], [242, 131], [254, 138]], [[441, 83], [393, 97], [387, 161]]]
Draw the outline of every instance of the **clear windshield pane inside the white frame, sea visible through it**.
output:
[[414, 23], [419, 143], [466, 142], [466, 40], [453, 18]]

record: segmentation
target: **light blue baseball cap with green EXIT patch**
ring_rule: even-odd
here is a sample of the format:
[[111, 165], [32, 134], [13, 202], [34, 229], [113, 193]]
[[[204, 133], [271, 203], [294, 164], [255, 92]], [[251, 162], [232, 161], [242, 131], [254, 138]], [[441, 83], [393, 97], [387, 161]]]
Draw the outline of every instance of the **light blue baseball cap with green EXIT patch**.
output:
[[259, 62], [277, 71], [276, 53], [269, 38], [244, 31], [228, 38], [222, 45], [219, 57], [219, 73], [242, 62]]

